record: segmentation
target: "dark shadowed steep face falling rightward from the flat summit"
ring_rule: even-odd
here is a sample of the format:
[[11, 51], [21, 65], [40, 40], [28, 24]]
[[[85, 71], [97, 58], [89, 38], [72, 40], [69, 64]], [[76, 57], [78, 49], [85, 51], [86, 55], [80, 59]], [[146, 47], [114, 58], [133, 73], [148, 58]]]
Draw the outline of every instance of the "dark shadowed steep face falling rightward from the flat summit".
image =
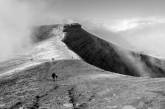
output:
[[65, 26], [63, 31], [63, 42], [87, 63], [125, 75], [165, 76], [164, 60], [123, 49], [88, 33], [80, 26]]

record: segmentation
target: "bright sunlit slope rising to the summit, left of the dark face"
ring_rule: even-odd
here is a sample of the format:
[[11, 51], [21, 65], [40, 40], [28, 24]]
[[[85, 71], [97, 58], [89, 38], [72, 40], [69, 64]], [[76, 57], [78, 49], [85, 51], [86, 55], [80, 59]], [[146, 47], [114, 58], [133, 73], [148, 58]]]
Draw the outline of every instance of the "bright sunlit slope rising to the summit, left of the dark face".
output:
[[[58, 27], [58, 25], [54, 26]], [[54, 26], [52, 27], [54, 28]], [[79, 59], [79, 56], [69, 50], [67, 46], [59, 40], [63, 37], [62, 30], [59, 31], [60, 27], [54, 30], [52, 29], [52, 31], [49, 31], [49, 34], [48, 32], [47, 34], [45, 33], [47, 29], [43, 29], [43, 34], [41, 34], [41, 32], [40, 36], [35, 36], [37, 35], [35, 34], [33, 37], [36, 38], [33, 38], [34, 43], [30, 49], [6, 61], [0, 62], [0, 73], [8, 74], [9, 72], [15, 72], [48, 61]], [[51, 37], [49, 36], [50, 34]]]

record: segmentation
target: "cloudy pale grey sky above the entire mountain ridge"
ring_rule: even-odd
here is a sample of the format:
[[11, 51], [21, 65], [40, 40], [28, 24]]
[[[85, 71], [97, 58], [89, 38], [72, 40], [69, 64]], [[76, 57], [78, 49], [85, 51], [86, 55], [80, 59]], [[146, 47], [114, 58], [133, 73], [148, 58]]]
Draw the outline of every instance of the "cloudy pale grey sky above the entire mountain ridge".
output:
[[164, 6], [165, 0], [0, 0], [0, 60], [29, 48], [34, 26], [71, 22], [121, 47], [165, 58]]

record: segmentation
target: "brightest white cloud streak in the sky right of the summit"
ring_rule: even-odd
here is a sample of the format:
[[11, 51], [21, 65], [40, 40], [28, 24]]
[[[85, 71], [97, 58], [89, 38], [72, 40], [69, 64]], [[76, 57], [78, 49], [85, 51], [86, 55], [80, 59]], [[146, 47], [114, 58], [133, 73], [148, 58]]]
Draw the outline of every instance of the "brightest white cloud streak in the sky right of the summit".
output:
[[114, 32], [122, 32], [132, 29], [143, 28], [155, 24], [165, 23], [163, 17], [147, 17], [147, 18], [130, 18], [130, 19], [115, 19], [113, 24], [105, 23], [104, 26]]

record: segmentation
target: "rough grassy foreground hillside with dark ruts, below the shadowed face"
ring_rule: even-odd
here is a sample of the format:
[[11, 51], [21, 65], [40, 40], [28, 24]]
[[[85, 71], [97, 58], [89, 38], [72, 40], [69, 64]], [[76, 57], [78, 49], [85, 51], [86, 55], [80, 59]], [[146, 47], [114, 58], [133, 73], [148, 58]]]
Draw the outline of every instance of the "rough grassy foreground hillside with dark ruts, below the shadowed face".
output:
[[81, 60], [61, 60], [1, 76], [0, 108], [164, 109], [164, 89], [164, 79], [123, 76]]

